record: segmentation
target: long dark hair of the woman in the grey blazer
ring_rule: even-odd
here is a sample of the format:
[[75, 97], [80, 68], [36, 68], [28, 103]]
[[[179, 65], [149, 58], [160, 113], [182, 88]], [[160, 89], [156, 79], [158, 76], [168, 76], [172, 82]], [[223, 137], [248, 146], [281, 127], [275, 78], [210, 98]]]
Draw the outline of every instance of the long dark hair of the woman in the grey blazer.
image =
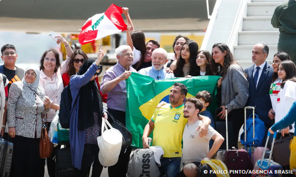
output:
[[[224, 78], [228, 72], [228, 68], [231, 64], [237, 64], [236, 60], [234, 59], [229, 47], [224, 44], [224, 43], [217, 43], [214, 44], [212, 49], [214, 49], [215, 47], [217, 47], [218, 49], [220, 49], [221, 52], [224, 53], [224, 51], [226, 51], [226, 55], [224, 56], [224, 67], [221, 66], [220, 63], [216, 63], [215, 60], [212, 58], [210, 63], [211, 63], [211, 71], [214, 75], [219, 75], [220, 71], [222, 69], [222, 73], [221, 76]], [[213, 53], [212, 53], [213, 56]]]

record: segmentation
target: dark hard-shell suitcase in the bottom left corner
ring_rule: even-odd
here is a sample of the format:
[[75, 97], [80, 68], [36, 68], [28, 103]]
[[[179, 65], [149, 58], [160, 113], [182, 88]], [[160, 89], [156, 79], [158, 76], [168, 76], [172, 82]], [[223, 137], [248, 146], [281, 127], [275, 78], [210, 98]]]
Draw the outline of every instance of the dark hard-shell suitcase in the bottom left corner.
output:
[[0, 137], [0, 177], [9, 177], [13, 143]]

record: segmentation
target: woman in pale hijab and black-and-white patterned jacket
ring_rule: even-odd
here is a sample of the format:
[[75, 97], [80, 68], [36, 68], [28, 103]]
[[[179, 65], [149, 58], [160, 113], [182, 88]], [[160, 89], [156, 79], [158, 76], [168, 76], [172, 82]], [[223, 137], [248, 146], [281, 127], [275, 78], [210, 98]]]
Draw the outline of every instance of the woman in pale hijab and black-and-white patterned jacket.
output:
[[39, 68], [28, 67], [23, 80], [10, 86], [5, 130], [13, 143], [10, 177], [39, 177], [41, 115], [50, 110], [50, 100], [39, 86], [39, 73]]

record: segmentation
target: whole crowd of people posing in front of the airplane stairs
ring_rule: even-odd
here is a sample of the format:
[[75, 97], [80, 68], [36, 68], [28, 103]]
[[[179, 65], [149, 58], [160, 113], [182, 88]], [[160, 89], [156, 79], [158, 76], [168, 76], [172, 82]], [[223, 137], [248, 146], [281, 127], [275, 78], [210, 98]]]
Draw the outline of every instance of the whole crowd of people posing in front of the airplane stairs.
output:
[[[164, 151], [159, 170], [166, 177], [197, 176], [201, 160], [212, 158], [224, 141], [215, 130], [214, 122], [223, 121], [226, 112], [234, 130], [233, 134], [229, 134], [233, 140], [229, 142], [230, 147], [238, 148], [246, 106], [255, 107], [258, 118], [264, 121], [267, 129], [271, 128], [271, 132], [281, 130], [277, 138], [288, 133], [294, 135], [294, 124], [289, 125], [295, 121], [295, 116], [291, 116], [289, 110], [292, 108], [291, 111], [295, 112], [296, 107], [296, 65], [288, 54], [271, 54], [274, 55], [271, 65], [266, 62], [270, 55], [268, 46], [265, 43], [255, 44], [250, 51], [254, 64], [244, 70], [226, 44], [214, 44], [212, 51], [198, 51], [197, 42], [178, 35], [172, 41], [174, 56], [168, 59], [167, 52], [160, 48], [157, 41], [146, 43], [145, 34], [134, 30], [128, 8], [124, 7], [123, 13], [128, 20], [127, 45], [115, 50], [117, 63], [102, 73], [101, 83], [98, 81], [102, 71], [99, 63], [104, 52], [100, 47], [98, 58], [88, 59], [84, 51], [75, 49], [73, 52], [69, 43], [62, 36], [57, 36], [57, 44], [66, 48], [66, 60], [61, 62], [59, 53], [49, 49], [41, 56], [40, 67], [23, 70], [15, 65], [18, 58], [16, 48], [9, 44], [2, 46], [4, 64], [0, 66], [0, 121], [3, 122], [1, 135], [14, 144], [10, 177], [44, 177], [45, 161], [49, 177], [55, 177], [54, 156], [60, 146], [54, 147], [49, 158], [42, 159], [39, 156], [39, 139], [42, 119], [50, 127], [56, 111], [60, 109], [63, 88], [67, 85], [74, 103], [70, 121], [73, 165], [81, 177], [86, 177], [94, 163], [92, 175], [99, 177], [103, 169], [98, 159], [97, 142], [97, 137], [101, 135], [101, 118], [107, 119], [111, 114], [123, 125], [126, 124], [125, 80], [133, 72], [155, 80], [220, 76], [217, 95], [201, 91], [196, 93], [196, 98], [185, 99], [188, 92], [186, 85], [175, 83], [169, 94], [169, 104], [161, 103], [146, 125], [143, 147], [149, 147], [148, 136], [153, 130], [152, 145], [160, 146]], [[214, 116], [207, 111], [213, 97], [217, 98], [221, 109]], [[103, 102], [107, 108], [103, 107]], [[247, 117], [250, 114], [247, 112]], [[175, 115], [178, 121], [171, 120]], [[291, 151], [294, 154], [295, 144], [293, 139]], [[108, 167], [109, 177], [126, 177], [131, 152], [132, 147], [120, 152], [117, 164]], [[184, 168], [180, 172], [181, 161]], [[290, 167], [296, 171], [296, 162], [290, 161]]]

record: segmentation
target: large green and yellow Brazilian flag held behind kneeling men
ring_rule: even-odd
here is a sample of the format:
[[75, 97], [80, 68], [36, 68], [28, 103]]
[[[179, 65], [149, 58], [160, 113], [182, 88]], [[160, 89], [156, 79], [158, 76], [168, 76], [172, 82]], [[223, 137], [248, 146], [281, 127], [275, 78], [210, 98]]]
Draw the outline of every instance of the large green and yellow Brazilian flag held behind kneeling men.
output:
[[[174, 78], [154, 80], [153, 78], [138, 73], [126, 79], [127, 104], [126, 127], [133, 134], [132, 146], [143, 148], [143, 130], [151, 119], [156, 106], [165, 101], [169, 103], [170, 90], [175, 82], [186, 85], [188, 94], [186, 98], [195, 97], [199, 91], [209, 91], [213, 102], [208, 111], [215, 115], [217, 108], [217, 81], [220, 76], [197, 76], [192, 78]], [[149, 136], [152, 138], [152, 133]], [[152, 138], [153, 141], [153, 138]]]

